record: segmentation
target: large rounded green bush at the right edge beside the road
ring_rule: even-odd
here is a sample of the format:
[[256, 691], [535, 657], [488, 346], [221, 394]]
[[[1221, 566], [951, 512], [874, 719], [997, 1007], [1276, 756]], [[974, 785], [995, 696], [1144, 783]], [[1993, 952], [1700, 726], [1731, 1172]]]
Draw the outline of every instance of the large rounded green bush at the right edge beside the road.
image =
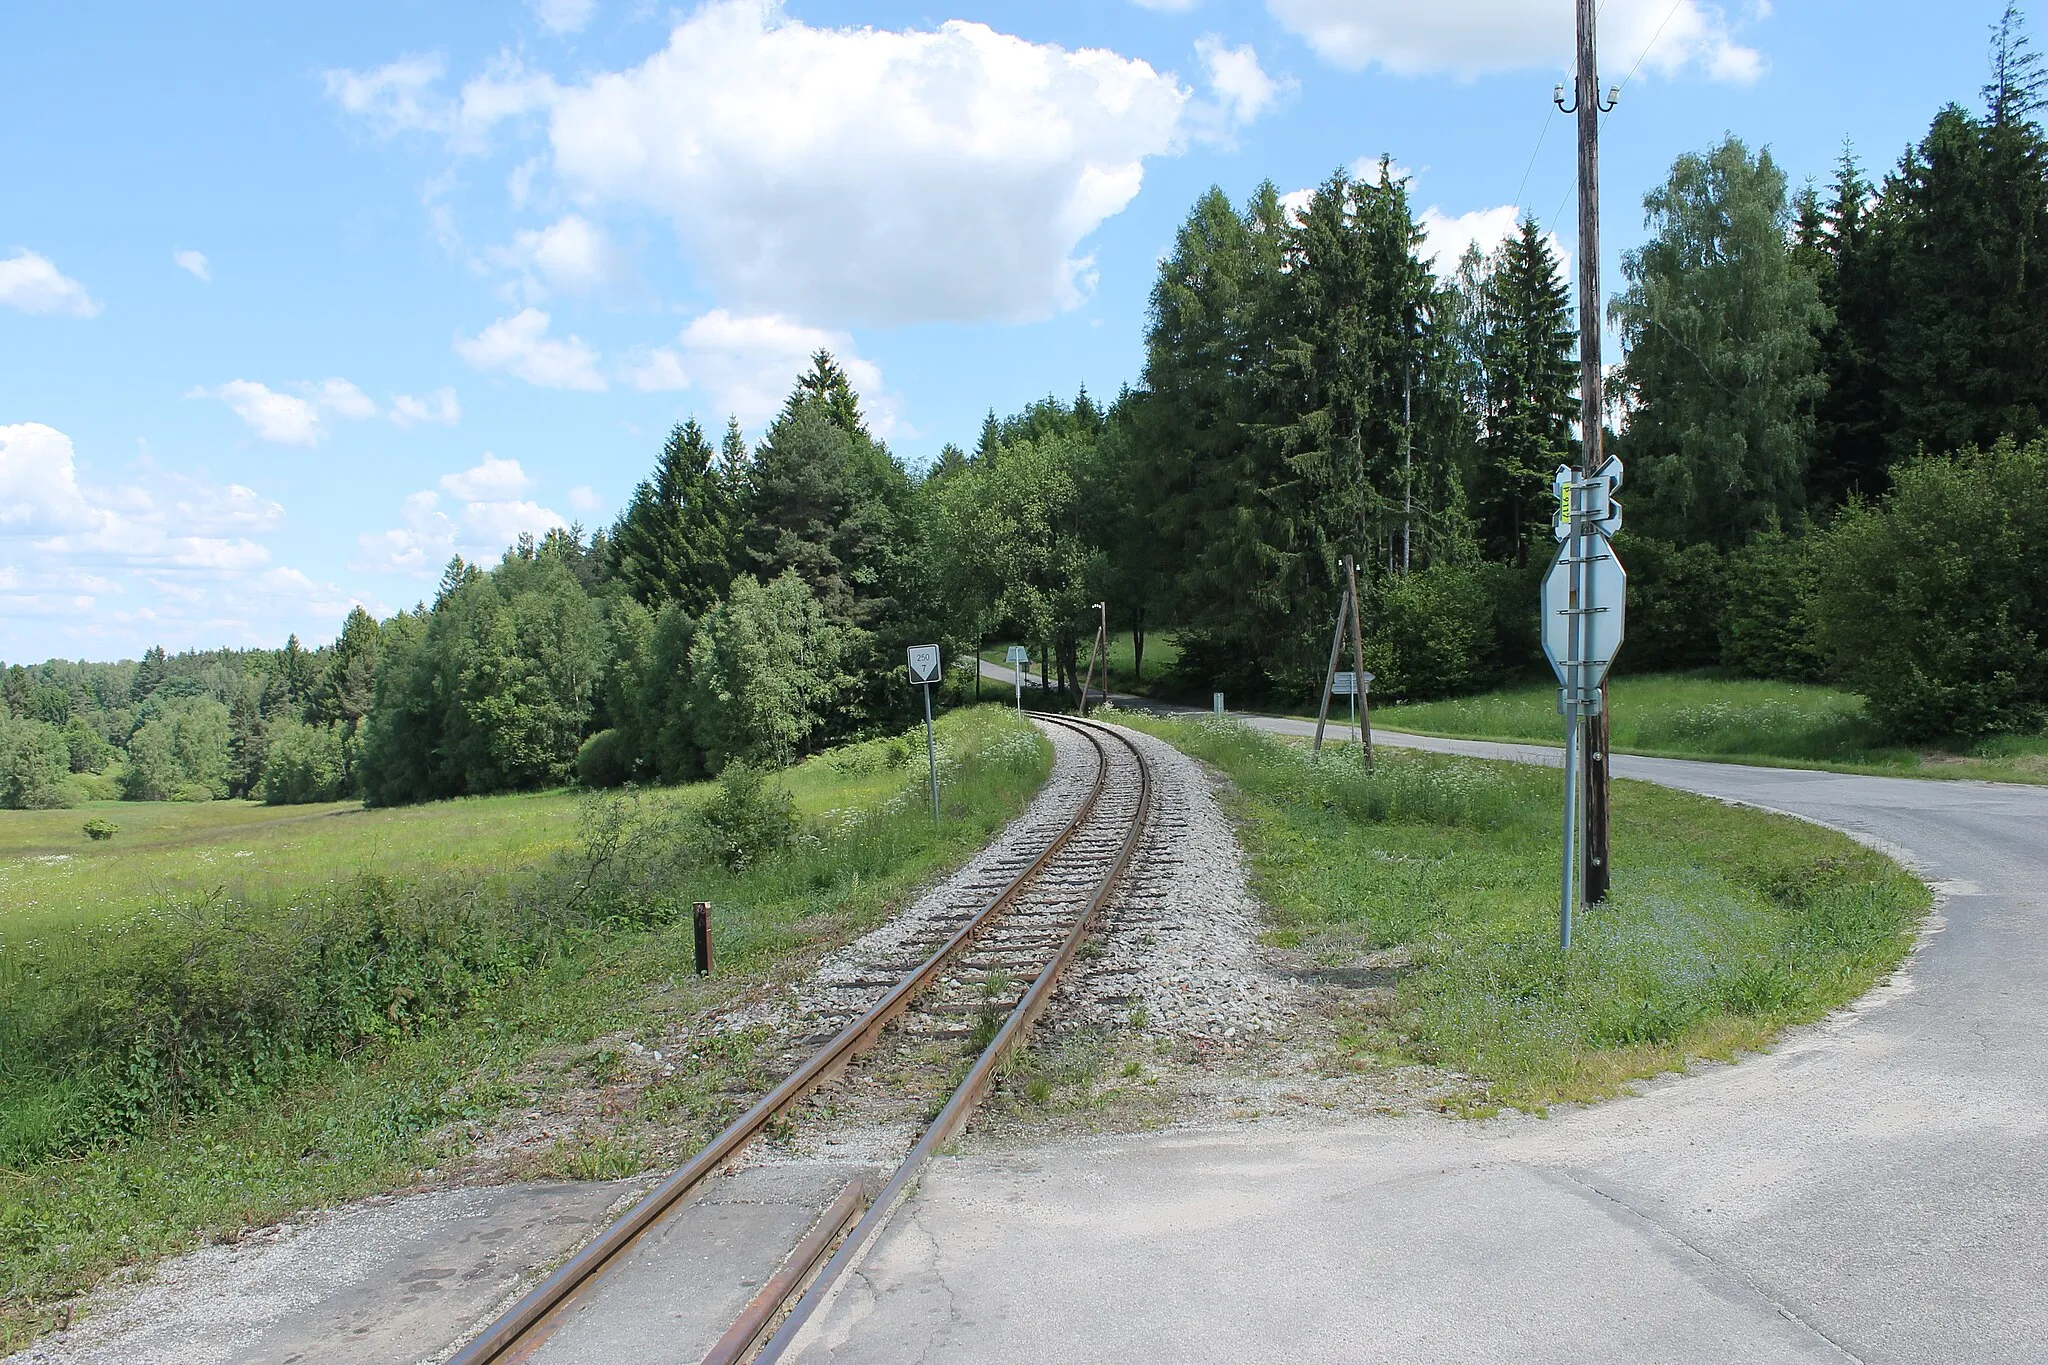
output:
[[2034, 733], [2048, 716], [2048, 442], [1921, 456], [1815, 555], [1833, 669], [1896, 741]]

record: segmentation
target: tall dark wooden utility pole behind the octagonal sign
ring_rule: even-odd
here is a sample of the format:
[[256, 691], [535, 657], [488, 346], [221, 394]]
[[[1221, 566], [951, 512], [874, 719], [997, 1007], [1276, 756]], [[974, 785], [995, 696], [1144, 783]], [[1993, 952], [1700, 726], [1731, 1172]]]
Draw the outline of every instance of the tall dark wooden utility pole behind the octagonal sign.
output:
[[[1579, 115], [1579, 479], [1602, 465], [1602, 422], [1606, 413], [1599, 366], [1599, 115], [1614, 108], [1599, 98], [1597, 0], [1579, 0], [1579, 74], [1575, 113]], [[1608, 686], [1599, 686], [1599, 712], [1581, 720], [1579, 753], [1585, 767], [1585, 902], [1608, 898]]]

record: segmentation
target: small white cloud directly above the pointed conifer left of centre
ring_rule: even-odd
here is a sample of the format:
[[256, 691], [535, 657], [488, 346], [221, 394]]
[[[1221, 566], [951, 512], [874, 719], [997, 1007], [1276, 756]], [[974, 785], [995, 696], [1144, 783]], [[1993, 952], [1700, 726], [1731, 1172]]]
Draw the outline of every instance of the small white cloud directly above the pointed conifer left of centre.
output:
[[711, 309], [692, 319], [672, 346], [653, 350], [631, 379], [645, 391], [702, 393], [715, 411], [754, 424], [782, 407], [797, 377], [821, 350], [829, 350], [846, 370], [877, 434], [889, 434], [895, 405], [883, 391], [881, 368], [854, 354], [848, 334], [807, 327], [778, 313], [750, 317]]

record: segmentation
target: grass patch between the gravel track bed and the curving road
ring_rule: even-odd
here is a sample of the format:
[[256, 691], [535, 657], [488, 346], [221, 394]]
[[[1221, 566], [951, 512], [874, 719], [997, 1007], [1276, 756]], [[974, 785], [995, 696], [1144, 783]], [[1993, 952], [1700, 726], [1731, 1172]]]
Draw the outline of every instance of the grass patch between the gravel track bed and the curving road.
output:
[[1235, 782], [1272, 945], [1393, 984], [1343, 1017], [1333, 1066], [1448, 1066], [1479, 1113], [1759, 1048], [1890, 972], [1929, 902], [1833, 831], [1616, 782], [1614, 894], [1567, 954], [1552, 772], [1382, 751], [1368, 776], [1233, 722], [1120, 718]]

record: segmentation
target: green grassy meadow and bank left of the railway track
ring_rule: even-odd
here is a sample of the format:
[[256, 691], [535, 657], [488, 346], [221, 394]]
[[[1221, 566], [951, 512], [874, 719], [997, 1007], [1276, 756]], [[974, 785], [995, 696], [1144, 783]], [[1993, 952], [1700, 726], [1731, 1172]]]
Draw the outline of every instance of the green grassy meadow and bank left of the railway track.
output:
[[[84, 812], [0, 812], [0, 1351], [117, 1267], [459, 1169], [627, 1044], [676, 1048], [877, 923], [1051, 765], [995, 706], [938, 729], [938, 829], [907, 741], [788, 772], [793, 825], [723, 784], [123, 806], [109, 843]], [[715, 907], [709, 980], [692, 900]], [[672, 1076], [608, 1091], [631, 1099], [604, 1138], [510, 1175], [614, 1177], [700, 1142], [768, 1083], [760, 1044], [690, 1038]]]

